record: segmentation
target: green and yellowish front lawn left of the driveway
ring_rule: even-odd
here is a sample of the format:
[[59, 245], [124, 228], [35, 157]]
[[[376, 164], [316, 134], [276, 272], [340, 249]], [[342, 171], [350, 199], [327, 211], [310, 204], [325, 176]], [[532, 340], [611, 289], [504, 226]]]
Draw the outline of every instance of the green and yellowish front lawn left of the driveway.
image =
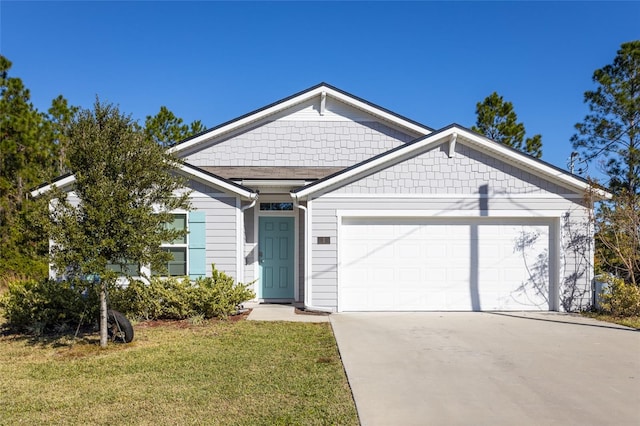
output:
[[0, 337], [0, 424], [358, 423], [329, 324], [178, 324], [106, 349]]

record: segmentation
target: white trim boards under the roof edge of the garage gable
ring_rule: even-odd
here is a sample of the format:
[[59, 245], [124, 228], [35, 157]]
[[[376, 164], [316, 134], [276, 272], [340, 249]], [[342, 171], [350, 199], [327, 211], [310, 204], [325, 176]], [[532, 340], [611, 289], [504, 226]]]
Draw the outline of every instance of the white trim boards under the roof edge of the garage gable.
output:
[[[551, 166], [548, 166], [524, 154], [516, 152], [506, 146], [490, 141], [485, 137], [476, 135], [475, 133], [469, 132], [457, 126], [452, 126], [435, 135], [427, 136], [418, 142], [403, 145], [400, 149], [389, 152], [372, 161], [360, 164], [359, 166], [354, 167], [351, 170], [347, 170], [346, 172], [340, 173], [330, 179], [321, 181], [317, 185], [303, 188], [302, 190], [296, 192], [296, 195], [298, 199], [304, 200], [312, 194], [321, 193], [323, 190], [328, 190], [332, 186], [340, 184], [341, 182], [357, 180], [363, 174], [370, 172], [371, 170], [384, 168], [390, 164], [400, 162], [403, 159], [408, 159], [419, 155], [429, 147], [446, 141], [452, 138], [454, 135], [457, 135], [457, 142], [464, 143], [464, 141], [461, 140], [462, 138], [464, 138], [466, 139], [467, 143], [469, 143], [473, 148], [481, 148], [484, 152], [491, 153], [494, 156], [502, 156], [512, 163], [519, 163], [521, 165], [524, 165], [526, 166], [526, 170], [530, 173], [550, 180], [558, 185], [569, 187], [571, 189], [577, 189], [580, 191], [587, 191], [590, 189], [590, 185], [588, 183], [566, 172], [562, 172], [555, 168], [552, 168]], [[601, 189], [594, 188], [593, 190], [594, 193], [601, 198], [611, 198], [612, 196], [607, 191]]]

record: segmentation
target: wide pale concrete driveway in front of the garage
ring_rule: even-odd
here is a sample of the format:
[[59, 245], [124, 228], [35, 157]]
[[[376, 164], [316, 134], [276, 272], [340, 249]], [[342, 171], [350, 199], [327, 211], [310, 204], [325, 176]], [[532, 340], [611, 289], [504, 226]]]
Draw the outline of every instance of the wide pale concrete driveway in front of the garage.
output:
[[558, 313], [330, 319], [363, 425], [640, 425], [640, 332]]

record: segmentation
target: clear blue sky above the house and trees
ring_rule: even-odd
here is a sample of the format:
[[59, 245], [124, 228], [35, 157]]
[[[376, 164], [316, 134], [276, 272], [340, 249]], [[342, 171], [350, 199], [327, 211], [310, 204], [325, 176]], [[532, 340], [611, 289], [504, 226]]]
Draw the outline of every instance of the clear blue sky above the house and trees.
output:
[[562, 168], [593, 71], [639, 38], [640, 2], [0, 1], [0, 52], [43, 111], [98, 95], [213, 127], [325, 81], [437, 129], [497, 91]]

